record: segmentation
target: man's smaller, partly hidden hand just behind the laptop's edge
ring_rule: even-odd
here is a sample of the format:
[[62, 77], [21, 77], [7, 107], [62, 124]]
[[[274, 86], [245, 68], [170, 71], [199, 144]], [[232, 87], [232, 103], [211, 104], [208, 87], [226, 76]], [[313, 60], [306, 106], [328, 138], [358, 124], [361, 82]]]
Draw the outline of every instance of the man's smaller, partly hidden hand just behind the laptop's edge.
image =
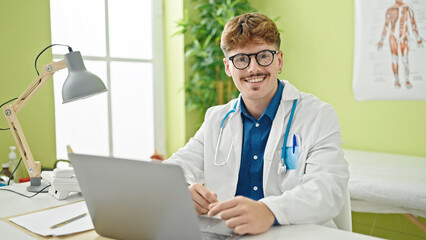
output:
[[207, 190], [202, 184], [194, 183], [188, 187], [188, 190], [199, 215], [206, 214], [209, 211], [209, 205], [217, 202], [216, 193]]

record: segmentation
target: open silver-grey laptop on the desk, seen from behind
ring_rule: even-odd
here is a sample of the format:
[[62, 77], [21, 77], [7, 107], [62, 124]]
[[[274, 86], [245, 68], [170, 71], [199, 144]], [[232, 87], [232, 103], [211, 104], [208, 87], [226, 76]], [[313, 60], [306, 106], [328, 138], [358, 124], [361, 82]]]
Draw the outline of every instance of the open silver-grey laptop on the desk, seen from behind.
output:
[[180, 166], [69, 154], [95, 231], [117, 239], [237, 239], [197, 216]]

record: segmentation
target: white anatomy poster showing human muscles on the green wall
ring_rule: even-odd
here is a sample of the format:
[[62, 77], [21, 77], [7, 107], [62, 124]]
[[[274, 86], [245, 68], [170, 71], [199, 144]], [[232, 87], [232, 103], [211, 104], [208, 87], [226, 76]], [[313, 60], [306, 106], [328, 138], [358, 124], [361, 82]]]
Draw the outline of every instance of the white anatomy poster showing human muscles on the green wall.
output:
[[425, 41], [425, 0], [355, 0], [355, 100], [426, 100]]

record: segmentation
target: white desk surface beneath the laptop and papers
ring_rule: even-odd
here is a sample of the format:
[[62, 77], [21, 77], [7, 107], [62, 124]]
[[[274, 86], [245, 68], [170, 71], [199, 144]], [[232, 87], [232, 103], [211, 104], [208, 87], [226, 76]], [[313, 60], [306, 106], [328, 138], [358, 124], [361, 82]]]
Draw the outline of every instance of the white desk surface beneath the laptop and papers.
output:
[[[9, 187], [14, 191], [23, 193], [25, 195], [32, 195], [26, 191], [28, 184], [15, 184]], [[59, 201], [53, 198], [48, 193], [39, 194], [33, 198], [25, 198], [18, 194], [0, 191], [0, 233], [2, 239], [22, 239], [22, 240], [33, 240], [33, 239], [56, 239], [53, 237], [43, 238], [36, 234], [30, 234], [25, 230], [22, 230], [19, 226], [14, 225], [7, 221], [7, 217], [30, 213], [46, 208], [55, 206], [61, 206], [68, 203], [81, 201], [83, 197], [79, 193], [72, 193], [66, 200]], [[108, 239], [99, 237], [95, 231], [89, 231], [82, 233], [85, 239]], [[79, 234], [70, 235], [66, 239], [81, 239]], [[366, 236], [358, 233], [351, 233], [341, 231], [333, 228], [327, 228], [320, 225], [291, 225], [291, 226], [277, 226], [272, 227], [268, 232], [256, 235], [256, 236], [244, 236], [241, 239], [378, 239], [371, 236]], [[61, 239], [64, 239], [61, 237]]]

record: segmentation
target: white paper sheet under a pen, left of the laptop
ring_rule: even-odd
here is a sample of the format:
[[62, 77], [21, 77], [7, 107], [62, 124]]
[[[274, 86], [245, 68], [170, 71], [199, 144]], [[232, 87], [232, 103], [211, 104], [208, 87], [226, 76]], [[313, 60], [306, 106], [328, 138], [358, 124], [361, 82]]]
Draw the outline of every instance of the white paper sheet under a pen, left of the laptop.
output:
[[58, 208], [36, 212], [10, 221], [42, 236], [62, 236], [94, 229], [90, 215], [70, 222], [62, 227], [50, 229], [51, 226], [88, 212], [86, 202], [77, 202]]

